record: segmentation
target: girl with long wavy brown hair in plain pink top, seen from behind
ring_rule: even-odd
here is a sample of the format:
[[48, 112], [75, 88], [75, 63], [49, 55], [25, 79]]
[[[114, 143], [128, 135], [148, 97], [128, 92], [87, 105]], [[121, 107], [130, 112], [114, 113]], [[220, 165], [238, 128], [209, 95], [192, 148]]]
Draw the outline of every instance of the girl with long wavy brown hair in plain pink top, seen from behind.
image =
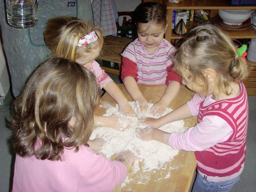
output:
[[134, 161], [110, 161], [88, 145], [99, 100], [96, 77], [64, 58], [46, 60], [16, 99], [13, 192], [111, 192]]

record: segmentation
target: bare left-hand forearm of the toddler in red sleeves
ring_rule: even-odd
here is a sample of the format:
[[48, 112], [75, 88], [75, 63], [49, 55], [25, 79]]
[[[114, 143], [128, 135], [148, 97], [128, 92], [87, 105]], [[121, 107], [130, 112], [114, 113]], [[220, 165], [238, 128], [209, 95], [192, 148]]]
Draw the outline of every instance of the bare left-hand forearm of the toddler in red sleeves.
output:
[[135, 79], [132, 76], [127, 76], [126, 78], [124, 78], [124, 86], [132, 99], [138, 102], [140, 110], [146, 111], [148, 109], [148, 101], [140, 92], [140, 89], [138, 88], [138, 84], [136, 83]]

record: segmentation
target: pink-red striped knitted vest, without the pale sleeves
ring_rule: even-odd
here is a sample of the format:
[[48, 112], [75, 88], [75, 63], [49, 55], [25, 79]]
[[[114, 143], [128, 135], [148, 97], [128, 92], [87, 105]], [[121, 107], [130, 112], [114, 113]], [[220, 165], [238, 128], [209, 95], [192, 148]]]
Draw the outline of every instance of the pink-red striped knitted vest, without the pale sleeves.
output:
[[236, 98], [217, 101], [209, 106], [200, 104], [198, 123], [202, 122], [205, 116], [216, 115], [233, 129], [233, 134], [225, 142], [195, 152], [198, 170], [206, 176], [230, 176], [239, 172], [245, 162], [248, 98], [243, 83], [241, 90], [241, 94]]

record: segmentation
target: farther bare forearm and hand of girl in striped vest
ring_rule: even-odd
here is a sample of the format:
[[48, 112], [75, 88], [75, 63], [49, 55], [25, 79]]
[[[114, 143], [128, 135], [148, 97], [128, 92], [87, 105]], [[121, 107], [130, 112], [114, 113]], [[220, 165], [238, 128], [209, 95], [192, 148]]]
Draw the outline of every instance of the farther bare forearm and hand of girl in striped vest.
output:
[[153, 128], [158, 129], [161, 126], [168, 124], [170, 122], [186, 119], [189, 117], [192, 117], [192, 113], [190, 112], [188, 104], [185, 103], [182, 106], [180, 106], [179, 108], [173, 110], [172, 112], [170, 112], [158, 119], [143, 118], [143, 119], [140, 119], [140, 122], [142, 122], [143, 124], [150, 125]]

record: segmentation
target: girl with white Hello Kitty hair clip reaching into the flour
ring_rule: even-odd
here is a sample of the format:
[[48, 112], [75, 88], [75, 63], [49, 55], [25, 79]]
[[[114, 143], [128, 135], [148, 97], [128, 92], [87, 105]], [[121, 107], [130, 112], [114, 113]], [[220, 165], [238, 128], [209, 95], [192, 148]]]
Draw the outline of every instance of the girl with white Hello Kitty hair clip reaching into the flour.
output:
[[[93, 72], [98, 86], [117, 102], [119, 112], [136, 116], [120, 88], [95, 61], [104, 42], [101, 28], [72, 16], [53, 17], [46, 24], [44, 40], [53, 56], [74, 60]], [[118, 119], [116, 116], [95, 115], [94, 126], [118, 129]]]

